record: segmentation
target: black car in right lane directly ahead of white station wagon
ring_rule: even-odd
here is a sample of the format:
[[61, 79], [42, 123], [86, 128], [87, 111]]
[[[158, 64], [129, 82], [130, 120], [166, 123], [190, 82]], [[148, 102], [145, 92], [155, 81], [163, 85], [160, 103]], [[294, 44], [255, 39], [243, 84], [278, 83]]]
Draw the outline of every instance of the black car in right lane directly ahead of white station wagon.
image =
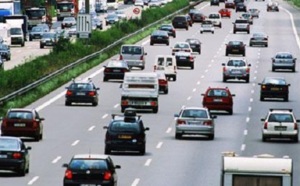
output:
[[260, 85], [260, 101], [265, 98], [282, 98], [289, 100], [289, 86], [283, 77], [265, 77]]

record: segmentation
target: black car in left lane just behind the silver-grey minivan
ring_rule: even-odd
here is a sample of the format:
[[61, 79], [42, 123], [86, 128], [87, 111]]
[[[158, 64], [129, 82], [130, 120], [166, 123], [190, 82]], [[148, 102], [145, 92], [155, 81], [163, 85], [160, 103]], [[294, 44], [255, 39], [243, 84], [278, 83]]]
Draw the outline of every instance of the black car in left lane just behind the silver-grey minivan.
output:
[[111, 60], [106, 66], [104, 66], [103, 71], [103, 81], [108, 81], [110, 79], [123, 80], [126, 72], [129, 72], [126, 61], [123, 60]]

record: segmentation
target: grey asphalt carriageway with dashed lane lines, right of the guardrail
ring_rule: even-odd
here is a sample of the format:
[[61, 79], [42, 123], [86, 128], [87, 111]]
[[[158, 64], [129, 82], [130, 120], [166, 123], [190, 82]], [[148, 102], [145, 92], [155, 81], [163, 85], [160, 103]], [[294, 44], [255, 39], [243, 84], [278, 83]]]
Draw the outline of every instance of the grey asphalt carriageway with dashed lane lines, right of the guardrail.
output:
[[[169, 94], [160, 95], [159, 112], [141, 113], [147, 131], [146, 154], [116, 153], [111, 157], [114, 163], [121, 165], [117, 170], [118, 185], [121, 186], [219, 186], [221, 153], [235, 151], [240, 155], [253, 156], [269, 153], [277, 157], [288, 155], [294, 160], [294, 186], [300, 184], [299, 143], [289, 141], [262, 142], [260, 118], [269, 108], [292, 108], [300, 119], [298, 96], [299, 67], [296, 72], [271, 72], [271, 57], [279, 51], [289, 51], [300, 59], [299, 45], [294, 34], [290, 14], [295, 10], [279, 1], [279, 12], [267, 12], [266, 3], [248, 0], [248, 8], [261, 10], [260, 17], [254, 20], [250, 32], [263, 31], [269, 36], [269, 47], [249, 47], [250, 34], [232, 33], [232, 22], [240, 13], [232, 11], [231, 19], [222, 20], [222, 28], [216, 28], [215, 34], [199, 33], [200, 24], [195, 23], [188, 31], [177, 30], [177, 37], [172, 38], [170, 46], [149, 45], [149, 38], [139, 44], [145, 46], [147, 66], [144, 71], [153, 71], [155, 55], [171, 54], [171, 46], [186, 38], [198, 38], [202, 42], [202, 53], [196, 55], [195, 69], [179, 69], [177, 81], [169, 82]], [[224, 4], [209, 6], [200, 4], [206, 15], [216, 12]], [[298, 14], [293, 14], [299, 19]], [[298, 24], [298, 23], [297, 23]], [[300, 25], [297, 25], [297, 29]], [[247, 44], [246, 59], [251, 63], [250, 83], [239, 81], [222, 82], [222, 63], [225, 57], [225, 44], [231, 40], [241, 40]], [[115, 56], [114, 58], [117, 58]], [[234, 56], [230, 56], [234, 57]], [[65, 169], [74, 154], [104, 153], [103, 126], [108, 125], [112, 113], [120, 113], [119, 82], [102, 82], [103, 65], [81, 75], [91, 77], [100, 87], [100, 102], [97, 107], [64, 105], [64, 85], [49, 95], [29, 105], [36, 108], [45, 118], [44, 139], [40, 142], [26, 140], [32, 147], [30, 152], [30, 173], [17, 177], [8, 173], [0, 174], [1, 186], [59, 186], [62, 185]], [[283, 76], [290, 86], [289, 102], [259, 101], [258, 83], [266, 76]], [[218, 114], [216, 119], [215, 139], [187, 137], [175, 140], [174, 114], [182, 106], [202, 106], [201, 93], [208, 87], [228, 87], [234, 97], [233, 115]]]

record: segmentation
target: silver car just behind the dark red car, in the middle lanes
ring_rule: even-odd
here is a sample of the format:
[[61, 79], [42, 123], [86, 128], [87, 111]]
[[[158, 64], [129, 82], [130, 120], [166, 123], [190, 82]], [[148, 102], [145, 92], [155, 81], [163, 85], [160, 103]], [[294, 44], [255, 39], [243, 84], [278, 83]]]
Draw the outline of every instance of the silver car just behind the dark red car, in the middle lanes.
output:
[[217, 116], [212, 116], [207, 108], [184, 107], [179, 114], [175, 114], [175, 138], [183, 135], [205, 135], [213, 140], [215, 137], [215, 122]]

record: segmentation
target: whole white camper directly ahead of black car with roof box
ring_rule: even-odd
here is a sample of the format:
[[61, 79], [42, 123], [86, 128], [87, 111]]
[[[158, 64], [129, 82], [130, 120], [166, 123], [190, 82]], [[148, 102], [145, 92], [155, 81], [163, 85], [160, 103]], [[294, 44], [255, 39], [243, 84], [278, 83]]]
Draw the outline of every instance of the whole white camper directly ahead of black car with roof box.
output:
[[121, 88], [121, 112], [130, 107], [158, 112], [159, 84], [156, 73], [126, 72]]

